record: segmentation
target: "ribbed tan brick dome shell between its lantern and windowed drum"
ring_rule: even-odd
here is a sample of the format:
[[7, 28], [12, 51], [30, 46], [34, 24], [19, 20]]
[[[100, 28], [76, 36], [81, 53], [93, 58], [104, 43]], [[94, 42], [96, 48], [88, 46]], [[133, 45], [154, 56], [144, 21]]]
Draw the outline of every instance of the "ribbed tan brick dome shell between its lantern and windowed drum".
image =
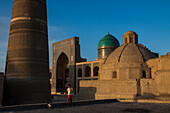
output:
[[114, 63], [145, 63], [147, 60], [158, 57], [158, 54], [151, 52], [141, 44], [127, 43], [118, 47], [107, 58], [105, 65]]

